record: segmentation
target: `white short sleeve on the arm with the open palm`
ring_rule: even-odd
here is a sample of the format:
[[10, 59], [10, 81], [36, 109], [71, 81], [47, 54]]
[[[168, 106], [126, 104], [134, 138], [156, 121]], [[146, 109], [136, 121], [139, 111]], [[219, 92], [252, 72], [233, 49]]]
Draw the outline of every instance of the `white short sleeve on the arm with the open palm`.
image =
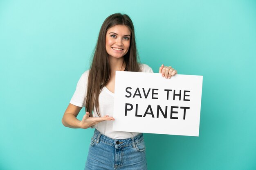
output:
[[85, 96], [86, 96], [86, 92], [87, 92], [88, 74], [89, 74], [89, 70], [85, 71], [79, 78], [79, 81], [76, 85], [76, 91], [74, 92], [74, 94], [70, 100], [70, 103], [72, 105], [76, 105], [78, 107], [85, 106]]

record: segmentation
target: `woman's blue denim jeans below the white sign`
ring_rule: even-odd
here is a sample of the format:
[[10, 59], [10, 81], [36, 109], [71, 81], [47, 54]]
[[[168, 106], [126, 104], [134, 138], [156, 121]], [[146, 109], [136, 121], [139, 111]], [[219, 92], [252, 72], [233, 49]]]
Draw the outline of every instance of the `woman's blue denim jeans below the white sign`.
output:
[[85, 170], [147, 170], [143, 134], [111, 139], [95, 129]]

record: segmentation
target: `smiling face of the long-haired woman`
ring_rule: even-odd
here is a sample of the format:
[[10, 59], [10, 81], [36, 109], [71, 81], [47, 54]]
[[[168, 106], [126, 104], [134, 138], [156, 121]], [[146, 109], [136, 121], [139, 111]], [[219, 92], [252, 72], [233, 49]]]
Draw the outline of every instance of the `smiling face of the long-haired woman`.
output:
[[125, 25], [115, 25], [106, 33], [106, 50], [109, 57], [121, 58], [130, 47], [131, 32]]

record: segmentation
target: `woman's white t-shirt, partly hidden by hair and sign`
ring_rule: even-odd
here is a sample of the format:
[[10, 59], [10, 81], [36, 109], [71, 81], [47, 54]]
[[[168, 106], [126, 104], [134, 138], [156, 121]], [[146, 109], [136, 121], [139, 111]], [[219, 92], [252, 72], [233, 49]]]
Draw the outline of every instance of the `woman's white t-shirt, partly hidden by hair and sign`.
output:
[[[150, 72], [153, 73], [153, 70], [146, 64], [140, 64], [141, 72]], [[70, 100], [72, 105], [79, 107], [84, 107], [85, 96], [87, 93], [87, 81], [88, 81], [89, 70], [85, 71], [80, 77], [77, 85], [76, 91], [74, 92], [73, 97]], [[109, 115], [113, 117], [114, 109], [114, 96], [115, 94], [110, 92], [107, 87], [103, 87], [101, 93], [99, 94], [99, 112], [101, 117]], [[98, 117], [96, 109], [94, 107], [94, 117]], [[94, 125], [93, 127], [100, 131], [103, 135], [110, 137], [112, 139], [126, 139], [138, 135], [136, 132], [122, 132], [122, 131], [112, 131], [113, 121], [103, 121], [99, 124]]]

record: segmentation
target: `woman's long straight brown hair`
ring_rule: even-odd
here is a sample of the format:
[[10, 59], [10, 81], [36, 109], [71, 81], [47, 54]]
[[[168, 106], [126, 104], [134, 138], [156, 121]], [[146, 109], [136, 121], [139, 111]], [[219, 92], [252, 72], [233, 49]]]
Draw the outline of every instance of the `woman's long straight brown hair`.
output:
[[94, 107], [99, 117], [99, 94], [104, 86], [107, 85], [110, 79], [110, 65], [108, 59], [108, 53], [106, 51], [106, 33], [109, 28], [115, 25], [125, 25], [130, 29], [130, 47], [126, 55], [124, 56], [124, 62], [126, 63], [126, 71], [139, 72], [139, 56], [137, 54], [135, 32], [132, 20], [126, 14], [115, 13], [106, 18], [99, 31], [99, 37], [97, 40], [96, 48], [94, 51], [92, 63], [90, 66], [88, 76], [87, 95], [85, 97], [85, 110], [90, 113], [92, 117], [92, 111]]

